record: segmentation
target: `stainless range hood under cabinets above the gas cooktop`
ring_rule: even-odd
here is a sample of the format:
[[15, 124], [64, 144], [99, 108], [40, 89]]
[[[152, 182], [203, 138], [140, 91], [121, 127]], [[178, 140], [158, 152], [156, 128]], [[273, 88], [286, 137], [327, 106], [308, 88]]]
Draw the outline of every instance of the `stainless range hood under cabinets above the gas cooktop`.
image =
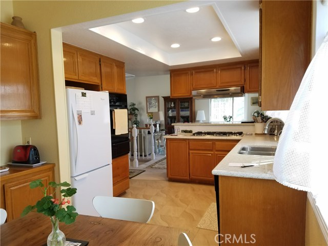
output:
[[208, 98], [223, 98], [223, 97], [241, 97], [244, 96], [244, 87], [232, 87], [211, 90], [193, 91], [193, 98], [208, 99]]

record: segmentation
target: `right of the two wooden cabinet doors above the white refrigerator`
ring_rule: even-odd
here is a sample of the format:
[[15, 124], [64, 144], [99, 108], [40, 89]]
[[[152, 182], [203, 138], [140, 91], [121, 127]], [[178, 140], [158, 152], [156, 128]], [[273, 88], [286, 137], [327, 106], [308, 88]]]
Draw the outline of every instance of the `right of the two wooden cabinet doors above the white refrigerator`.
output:
[[100, 56], [88, 51], [77, 51], [78, 78], [100, 85]]

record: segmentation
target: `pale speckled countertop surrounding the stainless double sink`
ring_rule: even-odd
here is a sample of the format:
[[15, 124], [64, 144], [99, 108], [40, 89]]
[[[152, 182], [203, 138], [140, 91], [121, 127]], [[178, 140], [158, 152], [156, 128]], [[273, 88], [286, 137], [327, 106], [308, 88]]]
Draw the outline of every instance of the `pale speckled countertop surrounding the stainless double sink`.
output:
[[[242, 155], [237, 152], [243, 146], [277, 146], [279, 138], [272, 135], [244, 135], [238, 144], [212, 170], [213, 175], [245, 178], [275, 179], [272, 171], [274, 156]], [[230, 167], [231, 162], [252, 163], [254, 167]]]

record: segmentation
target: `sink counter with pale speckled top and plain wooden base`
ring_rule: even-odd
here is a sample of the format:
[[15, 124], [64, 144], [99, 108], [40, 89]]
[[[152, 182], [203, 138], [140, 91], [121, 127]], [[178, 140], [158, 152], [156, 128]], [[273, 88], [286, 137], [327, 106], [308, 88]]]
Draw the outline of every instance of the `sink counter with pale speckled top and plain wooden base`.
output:
[[275, 181], [274, 156], [238, 154], [244, 146], [277, 144], [275, 136], [243, 136], [212, 170], [221, 245], [304, 245], [306, 192]]

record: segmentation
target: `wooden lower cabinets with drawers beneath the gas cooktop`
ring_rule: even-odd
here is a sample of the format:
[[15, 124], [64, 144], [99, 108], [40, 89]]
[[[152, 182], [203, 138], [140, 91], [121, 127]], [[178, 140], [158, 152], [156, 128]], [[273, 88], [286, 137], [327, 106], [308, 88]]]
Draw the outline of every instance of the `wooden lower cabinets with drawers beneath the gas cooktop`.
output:
[[166, 139], [169, 180], [214, 183], [212, 170], [239, 140]]

